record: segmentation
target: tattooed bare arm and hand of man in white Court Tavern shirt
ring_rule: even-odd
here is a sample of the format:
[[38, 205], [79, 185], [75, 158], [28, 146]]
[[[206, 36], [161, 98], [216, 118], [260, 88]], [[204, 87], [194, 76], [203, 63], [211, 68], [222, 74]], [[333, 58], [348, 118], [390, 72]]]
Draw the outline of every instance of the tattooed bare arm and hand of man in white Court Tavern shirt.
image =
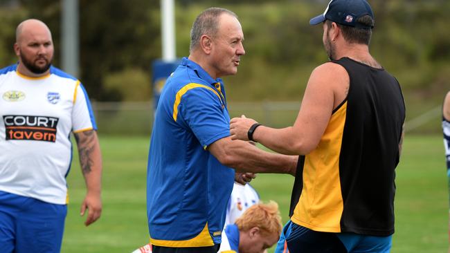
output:
[[88, 214], [84, 225], [91, 225], [100, 218], [102, 213], [101, 178], [102, 155], [95, 130], [74, 133], [80, 156], [80, 167], [86, 182], [87, 194], [81, 204], [80, 215], [83, 216], [86, 209]]

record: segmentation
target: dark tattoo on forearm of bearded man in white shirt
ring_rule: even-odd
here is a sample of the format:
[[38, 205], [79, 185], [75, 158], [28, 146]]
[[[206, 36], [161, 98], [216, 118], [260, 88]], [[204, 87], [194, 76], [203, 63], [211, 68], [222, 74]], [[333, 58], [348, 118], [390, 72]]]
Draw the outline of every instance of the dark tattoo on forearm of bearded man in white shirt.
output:
[[93, 130], [75, 133], [75, 140], [78, 145], [78, 155], [80, 156], [80, 167], [83, 174], [91, 172], [93, 166], [94, 134]]

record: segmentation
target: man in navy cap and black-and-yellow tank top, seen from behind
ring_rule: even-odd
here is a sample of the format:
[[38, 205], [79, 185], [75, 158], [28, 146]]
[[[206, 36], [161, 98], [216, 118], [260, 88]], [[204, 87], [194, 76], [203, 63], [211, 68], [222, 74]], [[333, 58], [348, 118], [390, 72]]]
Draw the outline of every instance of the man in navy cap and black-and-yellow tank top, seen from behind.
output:
[[330, 62], [309, 77], [294, 126], [233, 118], [231, 138], [299, 155], [289, 252], [389, 252], [405, 119], [399, 82], [370, 55], [366, 0], [332, 0], [309, 23], [323, 24]]

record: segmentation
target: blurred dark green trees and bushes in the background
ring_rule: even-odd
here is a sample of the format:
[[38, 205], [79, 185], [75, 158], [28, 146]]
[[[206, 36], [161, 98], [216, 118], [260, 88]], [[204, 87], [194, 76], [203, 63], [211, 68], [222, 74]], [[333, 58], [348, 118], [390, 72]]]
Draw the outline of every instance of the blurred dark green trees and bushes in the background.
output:
[[[210, 6], [233, 10], [244, 30], [238, 74], [225, 77], [228, 100], [300, 100], [312, 69], [327, 61], [320, 26], [309, 19], [327, 0], [175, 0], [177, 56], [188, 55], [190, 26]], [[440, 101], [450, 87], [448, 0], [372, 0], [371, 52], [404, 89], [408, 108]], [[161, 57], [159, 0], [79, 0], [80, 78], [91, 99], [143, 101], [152, 97], [151, 64]], [[0, 3], [0, 64], [17, 61], [12, 50], [20, 21], [37, 18], [53, 32], [60, 64], [61, 3]]]

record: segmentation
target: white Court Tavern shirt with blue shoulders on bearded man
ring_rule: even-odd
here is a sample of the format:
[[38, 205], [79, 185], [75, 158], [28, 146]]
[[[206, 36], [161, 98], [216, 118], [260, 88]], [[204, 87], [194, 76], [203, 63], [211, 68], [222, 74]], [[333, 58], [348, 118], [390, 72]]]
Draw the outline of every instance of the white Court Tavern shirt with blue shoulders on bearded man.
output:
[[65, 204], [71, 131], [96, 129], [80, 81], [51, 66], [32, 78], [0, 70], [0, 191]]

